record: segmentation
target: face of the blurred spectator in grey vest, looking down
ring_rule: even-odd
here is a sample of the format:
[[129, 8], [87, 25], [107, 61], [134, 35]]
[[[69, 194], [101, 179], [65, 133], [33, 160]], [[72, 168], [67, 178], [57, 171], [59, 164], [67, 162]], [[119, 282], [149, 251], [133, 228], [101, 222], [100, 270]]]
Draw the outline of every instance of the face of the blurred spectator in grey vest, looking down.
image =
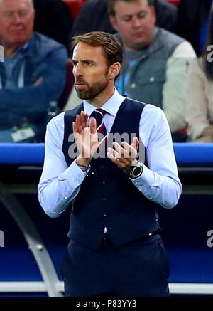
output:
[[155, 9], [147, 0], [117, 1], [115, 16], [110, 16], [114, 29], [120, 34], [124, 48], [136, 51], [148, 46], [155, 33]]

